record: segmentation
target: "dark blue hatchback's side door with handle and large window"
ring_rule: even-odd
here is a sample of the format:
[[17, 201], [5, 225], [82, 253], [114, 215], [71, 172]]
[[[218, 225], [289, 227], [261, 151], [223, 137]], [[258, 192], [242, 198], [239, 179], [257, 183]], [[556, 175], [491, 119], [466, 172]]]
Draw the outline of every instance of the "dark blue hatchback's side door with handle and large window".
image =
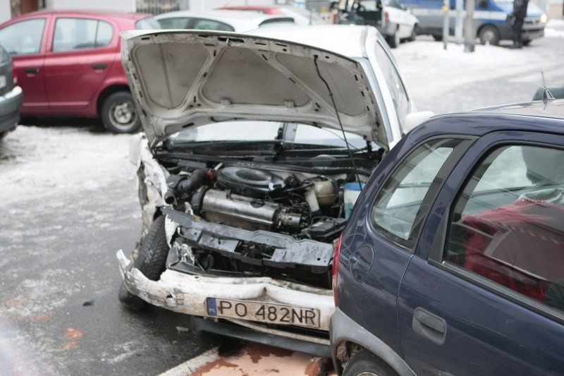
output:
[[398, 295], [417, 374], [562, 372], [563, 159], [563, 137], [491, 133], [450, 174]]

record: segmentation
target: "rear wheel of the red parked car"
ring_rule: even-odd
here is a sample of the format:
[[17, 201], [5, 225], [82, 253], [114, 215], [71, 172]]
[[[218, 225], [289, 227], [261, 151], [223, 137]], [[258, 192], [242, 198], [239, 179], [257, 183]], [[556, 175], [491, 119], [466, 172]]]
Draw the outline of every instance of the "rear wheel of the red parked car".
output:
[[141, 119], [130, 92], [114, 92], [104, 100], [100, 118], [104, 127], [114, 133], [135, 133], [141, 129]]

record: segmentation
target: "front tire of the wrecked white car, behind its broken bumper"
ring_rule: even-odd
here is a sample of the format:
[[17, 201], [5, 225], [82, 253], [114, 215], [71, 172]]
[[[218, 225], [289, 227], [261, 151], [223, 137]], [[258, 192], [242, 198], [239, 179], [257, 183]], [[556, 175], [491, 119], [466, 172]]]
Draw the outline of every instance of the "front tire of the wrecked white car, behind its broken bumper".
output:
[[[164, 231], [164, 216], [157, 217], [141, 243], [133, 266], [139, 269], [148, 279], [157, 281], [166, 269], [168, 249]], [[130, 310], [141, 310], [147, 305], [147, 302], [142, 298], [130, 293], [123, 282], [118, 292], [118, 299]]]

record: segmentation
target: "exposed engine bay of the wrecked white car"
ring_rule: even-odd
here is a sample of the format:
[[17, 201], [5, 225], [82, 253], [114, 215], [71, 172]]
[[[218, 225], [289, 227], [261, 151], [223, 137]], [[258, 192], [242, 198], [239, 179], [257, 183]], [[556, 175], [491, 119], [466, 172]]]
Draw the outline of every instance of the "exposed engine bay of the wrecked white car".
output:
[[170, 174], [163, 212], [179, 227], [168, 267], [330, 288], [333, 242], [346, 222], [345, 183], [355, 178], [367, 176], [236, 165]]

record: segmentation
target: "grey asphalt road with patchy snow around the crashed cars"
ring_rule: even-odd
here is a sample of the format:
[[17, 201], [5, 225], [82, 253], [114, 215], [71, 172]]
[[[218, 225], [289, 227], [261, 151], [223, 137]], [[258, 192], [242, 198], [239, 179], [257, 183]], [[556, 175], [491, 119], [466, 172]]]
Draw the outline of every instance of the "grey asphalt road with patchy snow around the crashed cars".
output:
[[[562, 37], [476, 54], [442, 46], [394, 50], [419, 109], [526, 101], [541, 70], [564, 85]], [[94, 121], [26, 124], [0, 142], [0, 374], [158, 375], [216, 345], [189, 317], [117, 301], [115, 253], [135, 247], [141, 225], [129, 136]]]

